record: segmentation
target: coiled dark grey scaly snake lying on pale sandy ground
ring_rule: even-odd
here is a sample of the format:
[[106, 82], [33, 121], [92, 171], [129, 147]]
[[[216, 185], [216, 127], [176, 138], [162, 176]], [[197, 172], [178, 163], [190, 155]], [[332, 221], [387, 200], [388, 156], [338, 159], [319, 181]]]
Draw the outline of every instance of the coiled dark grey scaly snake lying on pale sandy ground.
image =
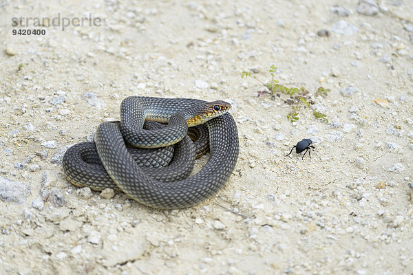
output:
[[[151, 208], [195, 206], [219, 192], [235, 168], [239, 141], [229, 109], [231, 104], [222, 100], [130, 96], [120, 104], [120, 122], [99, 124], [93, 145], [76, 144], [66, 151], [63, 170], [76, 186], [122, 190]], [[147, 122], [167, 123], [167, 126], [143, 129]], [[187, 135], [188, 127], [199, 124], [208, 131], [210, 156], [198, 173], [187, 177], [191, 168], [184, 168], [182, 173], [182, 167], [188, 163], [185, 167], [191, 166], [195, 159], [195, 146]], [[136, 163], [131, 155], [133, 150], [128, 148], [156, 150], [153, 148], [172, 145], [175, 149], [171, 163], [162, 168], [149, 168], [152, 169], [150, 173]], [[87, 157], [88, 154], [96, 156]], [[103, 164], [104, 169], [85, 168], [87, 160], [92, 166]], [[79, 173], [82, 169], [87, 172]], [[109, 176], [109, 181], [103, 181], [103, 174]]]

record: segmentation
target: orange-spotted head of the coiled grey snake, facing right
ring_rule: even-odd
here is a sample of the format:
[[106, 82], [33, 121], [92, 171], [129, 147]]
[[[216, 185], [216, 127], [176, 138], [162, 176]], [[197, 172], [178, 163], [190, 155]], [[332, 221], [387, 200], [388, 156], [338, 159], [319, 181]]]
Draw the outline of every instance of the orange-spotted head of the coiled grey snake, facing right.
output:
[[198, 109], [191, 118], [187, 120], [188, 126], [195, 126], [203, 124], [208, 120], [216, 118], [220, 115], [223, 115], [229, 109], [231, 109], [231, 104], [223, 100], [215, 100], [211, 102], [206, 102], [199, 104], [195, 109]]

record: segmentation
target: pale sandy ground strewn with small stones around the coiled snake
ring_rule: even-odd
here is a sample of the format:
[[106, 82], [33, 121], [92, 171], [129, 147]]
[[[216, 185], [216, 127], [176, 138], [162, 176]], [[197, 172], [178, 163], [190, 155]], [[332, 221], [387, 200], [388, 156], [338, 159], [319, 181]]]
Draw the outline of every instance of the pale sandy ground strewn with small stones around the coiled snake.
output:
[[[0, 273], [412, 274], [413, 3], [306, 2], [3, 1]], [[34, 28], [12, 17], [58, 14], [90, 17], [12, 35]], [[296, 123], [288, 96], [241, 78], [271, 65], [310, 91]], [[133, 95], [233, 102], [218, 195], [153, 210], [65, 179], [67, 146]], [[285, 157], [303, 138], [312, 158]]]

